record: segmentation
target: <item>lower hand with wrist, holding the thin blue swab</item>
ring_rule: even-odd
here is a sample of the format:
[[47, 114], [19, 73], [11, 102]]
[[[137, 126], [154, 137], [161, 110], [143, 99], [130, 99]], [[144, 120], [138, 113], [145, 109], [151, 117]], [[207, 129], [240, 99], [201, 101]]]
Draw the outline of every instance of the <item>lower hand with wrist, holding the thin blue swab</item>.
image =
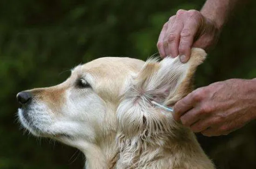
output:
[[256, 119], [256, 80], [230, 79], [198, 88], [174, 106], [174, 118], [205, 136], [229, 134]]

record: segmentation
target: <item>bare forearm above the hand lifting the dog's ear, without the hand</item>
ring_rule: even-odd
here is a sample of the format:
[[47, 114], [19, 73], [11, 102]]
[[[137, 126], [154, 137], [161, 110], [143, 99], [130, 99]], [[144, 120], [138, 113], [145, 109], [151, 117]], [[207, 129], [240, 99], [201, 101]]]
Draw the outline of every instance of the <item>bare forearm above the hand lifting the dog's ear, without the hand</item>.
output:
[[221, 29], [230, 13], [241, 0], [207, 0], [201, 9], [204, 17], [213, 20]]

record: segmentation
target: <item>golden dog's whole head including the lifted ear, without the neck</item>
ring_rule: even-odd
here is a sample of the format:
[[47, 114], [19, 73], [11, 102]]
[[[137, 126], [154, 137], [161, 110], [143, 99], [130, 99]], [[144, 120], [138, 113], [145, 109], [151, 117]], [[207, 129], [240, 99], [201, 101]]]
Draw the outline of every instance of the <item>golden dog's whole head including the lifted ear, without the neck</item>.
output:
[[116, 134], [118, 126], [128, 135], [136, 134], [152, 119], [144, 111], [152, 107], [151, 100], [171, 105], [188, 94], [191, 76], [205, 55], [193, 49], [185, 64], [178, 57], [146, 63], [104, 57], [79, 65], [57, 86], [17, 94], [20, 122], [35, 136], [78, 148]]

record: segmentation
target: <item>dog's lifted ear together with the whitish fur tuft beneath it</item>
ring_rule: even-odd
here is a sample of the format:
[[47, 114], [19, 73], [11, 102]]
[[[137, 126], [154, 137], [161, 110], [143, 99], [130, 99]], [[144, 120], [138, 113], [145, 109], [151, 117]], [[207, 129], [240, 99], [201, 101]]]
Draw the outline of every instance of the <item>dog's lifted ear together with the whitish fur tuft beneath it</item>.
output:
[[189, 94], [195, 69], [205, 57], [204, 50], [193, 48], [187, 63], [181, 63], [179, 57], [166, 57], [161, 62], [149, 59], [131, 81], [118, 107], [117, 118], [121, 130], [131, 136], [145, 132], [148, 126], [157, 129], [152, 124], [161, 120], [157, 113], [150, 110], [150, 101], [169, 106]]

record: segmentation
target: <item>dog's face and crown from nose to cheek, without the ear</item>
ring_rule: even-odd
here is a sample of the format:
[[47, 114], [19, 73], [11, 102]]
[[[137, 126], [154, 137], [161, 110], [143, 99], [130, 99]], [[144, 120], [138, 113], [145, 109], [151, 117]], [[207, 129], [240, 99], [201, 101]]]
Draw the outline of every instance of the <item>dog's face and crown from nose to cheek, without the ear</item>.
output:
[[143, 63], [99, 58], [75, 67], [57, 86], [22, 91], [17, 94], [20, 122], [36, 136], [94, 142], [109, 127], [105, 122], [114, 123], [110, 113], [118, 105], [122, 87]]

